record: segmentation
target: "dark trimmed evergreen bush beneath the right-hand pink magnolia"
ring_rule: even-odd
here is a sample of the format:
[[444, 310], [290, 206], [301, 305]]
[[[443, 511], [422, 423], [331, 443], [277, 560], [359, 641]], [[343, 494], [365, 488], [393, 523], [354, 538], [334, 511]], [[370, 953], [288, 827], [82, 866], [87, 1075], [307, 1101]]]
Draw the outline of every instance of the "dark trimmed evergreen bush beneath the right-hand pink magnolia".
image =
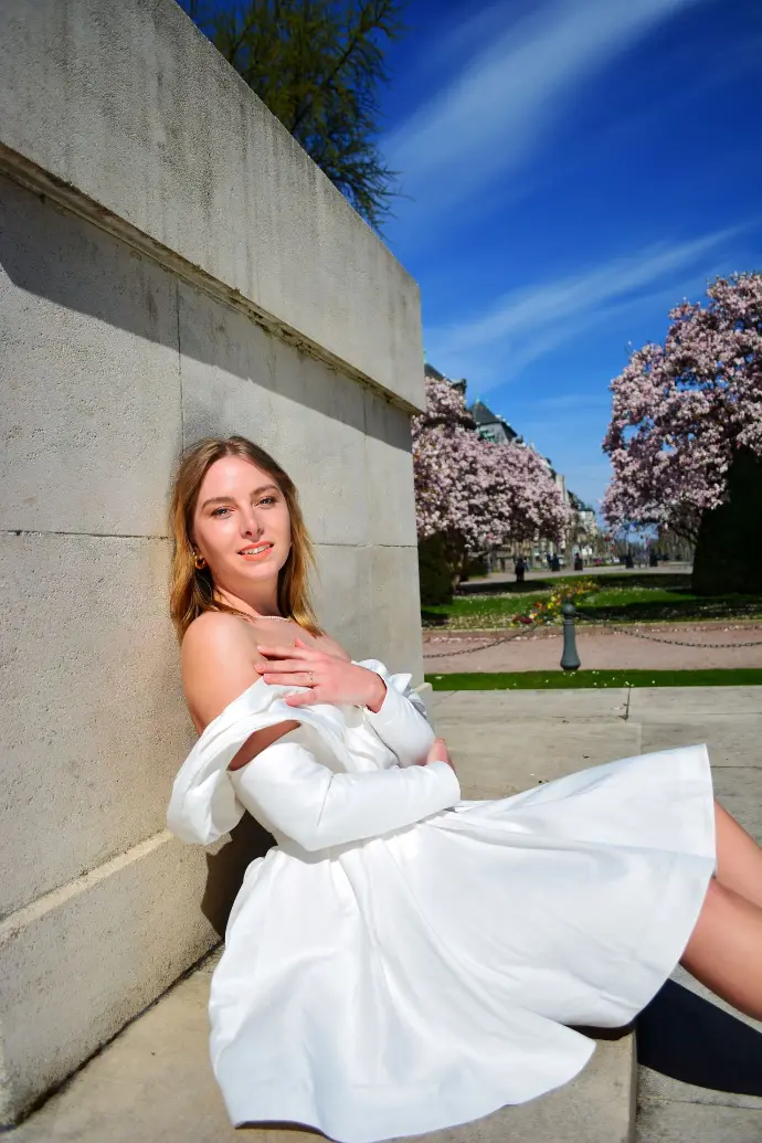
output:
[[739, 448], [728, 472], [728, 502], [704, 512], [696, 542], [699, 596], [762, 592], [762, 459]]

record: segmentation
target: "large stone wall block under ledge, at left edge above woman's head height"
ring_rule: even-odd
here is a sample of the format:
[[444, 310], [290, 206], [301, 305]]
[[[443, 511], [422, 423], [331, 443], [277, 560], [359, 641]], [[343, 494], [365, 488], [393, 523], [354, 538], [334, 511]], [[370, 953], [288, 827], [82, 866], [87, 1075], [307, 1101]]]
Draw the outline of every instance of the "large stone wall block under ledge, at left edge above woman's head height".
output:
[[0, 527], [166, 535], [181, 443], [171, 277], [8, 178], [0, 266]]

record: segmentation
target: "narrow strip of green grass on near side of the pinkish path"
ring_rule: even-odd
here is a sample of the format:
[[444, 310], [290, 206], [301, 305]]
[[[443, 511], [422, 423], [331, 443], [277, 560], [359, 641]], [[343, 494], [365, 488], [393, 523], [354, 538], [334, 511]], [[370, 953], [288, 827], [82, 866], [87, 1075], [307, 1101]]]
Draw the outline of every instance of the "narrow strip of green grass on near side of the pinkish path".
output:
[[592, 687], [761, 687], [762, 670], [502, 671], [427, 674], [434, 690], [571, 690]]

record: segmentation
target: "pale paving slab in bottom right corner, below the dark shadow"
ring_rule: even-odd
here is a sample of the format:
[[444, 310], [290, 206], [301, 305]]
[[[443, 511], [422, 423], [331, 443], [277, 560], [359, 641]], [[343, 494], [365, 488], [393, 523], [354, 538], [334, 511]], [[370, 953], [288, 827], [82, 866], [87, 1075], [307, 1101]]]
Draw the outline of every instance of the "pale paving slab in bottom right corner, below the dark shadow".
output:
[[642, 1100], [636, 1143], [760, 1143], [762, 1114], [748, 1108]]

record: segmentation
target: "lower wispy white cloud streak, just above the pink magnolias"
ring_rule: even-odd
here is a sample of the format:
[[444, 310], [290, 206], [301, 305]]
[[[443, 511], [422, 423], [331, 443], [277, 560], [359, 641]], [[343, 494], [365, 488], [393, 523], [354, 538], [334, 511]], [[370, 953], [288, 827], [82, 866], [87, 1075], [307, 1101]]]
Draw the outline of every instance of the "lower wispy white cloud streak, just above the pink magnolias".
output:
[[471, 371], [478, 361], [499, 357], [499, 375], [488, 368], [482, 377], [480, 370], [480, 386], [490, 389], [601, 322], [633, 317], [639, 310], [666, 314], [681, 301], [687, 275], [692, 271], [695, 277], [700, 267], [705, 282], [707, 263], [737, 233], [738, 227], [733, 227], [683, 242], [653, 245], [577, 274], [512, 290], [483, 313], [427, 329], [430, 358], [455, 374], [464, 366]]

